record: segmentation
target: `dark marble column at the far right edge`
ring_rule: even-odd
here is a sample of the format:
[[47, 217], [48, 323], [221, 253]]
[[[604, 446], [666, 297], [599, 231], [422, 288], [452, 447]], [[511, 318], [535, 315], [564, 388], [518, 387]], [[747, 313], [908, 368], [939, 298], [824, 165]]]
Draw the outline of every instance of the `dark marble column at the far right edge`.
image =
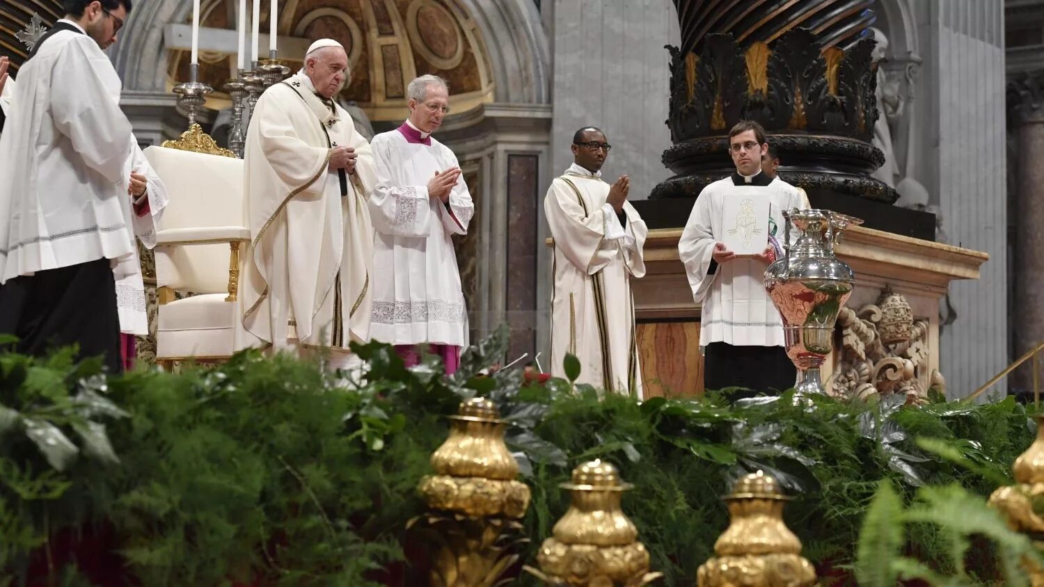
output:
[[[1018, 132], [1018, 215], [1015, 241], [1015, 331], [1017, 359], [1044, 342], [1044, 71], [1009, 82], [1010, 94], [1019, 98], [1016, 107]], [[1040, 375], [1044, 376], [1044, 363]], [[1013, 384], [1033, 386], [1028, 366], [1013, 374]]]

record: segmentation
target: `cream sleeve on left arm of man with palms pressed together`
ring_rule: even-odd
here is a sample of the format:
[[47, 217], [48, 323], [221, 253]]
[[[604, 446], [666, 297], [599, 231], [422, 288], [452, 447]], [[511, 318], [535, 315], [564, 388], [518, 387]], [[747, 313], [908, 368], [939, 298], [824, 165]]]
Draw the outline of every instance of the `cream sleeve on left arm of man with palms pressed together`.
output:
[[600, 210], [588, 216], [576, 194], [564, 180], [555, 179], [544, 199], [544, 214], [554, 247], [588, 275], [595, 274], [619, 254], [619, 247], [606, 246], [606, 217]]

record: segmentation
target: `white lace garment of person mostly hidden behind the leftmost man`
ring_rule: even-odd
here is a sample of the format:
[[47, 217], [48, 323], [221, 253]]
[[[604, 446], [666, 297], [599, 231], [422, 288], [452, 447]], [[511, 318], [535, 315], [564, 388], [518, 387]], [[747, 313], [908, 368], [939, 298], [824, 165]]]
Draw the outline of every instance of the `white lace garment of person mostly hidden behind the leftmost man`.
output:
[[[167, 190], [163, 180], [156, 174], [141, 147], [135, 144], [130, 157], [130, 169], [145, 176], [145, 194], [142, 204], [130, 212], [128, 223], [134, 227], [134, 234], [141, 244], [151, 249], [156, 246], [156, 230], [167, 207]], [[147, 207], [144, 205], [148, 203]], [[120, 332], [126, 335], [147, 336], [148, 314], [145, 303], [145, 284], [141, 274], [141, 259], [138, 256], [137, 244], [132, 241], [134, 253], [120, 259], [113, 269], [116, 277], [116, 308], [120, 315]]]

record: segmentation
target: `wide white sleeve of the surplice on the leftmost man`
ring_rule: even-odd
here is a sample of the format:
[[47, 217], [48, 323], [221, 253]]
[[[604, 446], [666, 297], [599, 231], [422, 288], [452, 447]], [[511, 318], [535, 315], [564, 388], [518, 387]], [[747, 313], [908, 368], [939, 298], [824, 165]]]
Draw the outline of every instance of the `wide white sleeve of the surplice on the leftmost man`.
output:
[[119, 77], [94, 41], [81, 36], [66, 43], [55, 60], [51, 79], [61, 83], [51, 84], [51, 116], [91, 169], [125, 188], [133, 128], [120, 109]]

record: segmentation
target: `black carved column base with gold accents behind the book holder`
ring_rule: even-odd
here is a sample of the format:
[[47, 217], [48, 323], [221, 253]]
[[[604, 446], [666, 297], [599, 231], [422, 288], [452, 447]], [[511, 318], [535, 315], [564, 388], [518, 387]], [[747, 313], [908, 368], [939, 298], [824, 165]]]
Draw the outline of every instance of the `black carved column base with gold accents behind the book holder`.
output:
[[829, 40], [805, 28], [769, 40], [715, 33], [688, 53], [668, 47], [674, 145], [663, 162], [675, 175], [649, 197], [692, 197], [706, 179], [728, 176], [729, 128], [754, 120], [770, 134], [787, 180], [801, 180], [806, 191], [894, 203], [895, 189], [871, 176], [884, 163], [870, 143], [879, 116], [875, 41], [824, 48]]

